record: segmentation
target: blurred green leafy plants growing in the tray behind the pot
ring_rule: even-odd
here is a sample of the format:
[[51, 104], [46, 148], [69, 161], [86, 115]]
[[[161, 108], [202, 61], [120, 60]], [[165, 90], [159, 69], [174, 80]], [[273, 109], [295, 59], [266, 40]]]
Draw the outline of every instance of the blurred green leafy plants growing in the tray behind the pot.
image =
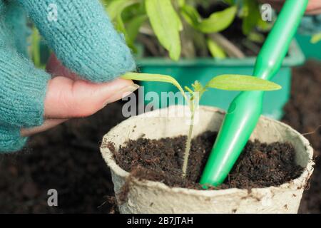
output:
[[[240, 48], [220, 34], [235, 21], [236, 17], [242, 20], [242, 31], [249, 41], [263, 43], [264, 36], [258, 33], [258, 30], [270, 29], [270, 24], [261, 19], [258, 2], [253, 0], [105, 0], [104, 2], [116, 29], [124, 34], [128, 46], [134, 51], [139, 38], [154, 56], [165, 55], [165, 49], [175, 61], [180, 56], [193, 58], [206, 56], [208, 52], [215, 58], [225, 58], [227, 55], [244, 57]], [[207, 9], [213, 4], [224, 4], [225, 9], [203, 18], [198, 12], [198, 7]], [[144, 36], [138, 37], [138, 34]]]

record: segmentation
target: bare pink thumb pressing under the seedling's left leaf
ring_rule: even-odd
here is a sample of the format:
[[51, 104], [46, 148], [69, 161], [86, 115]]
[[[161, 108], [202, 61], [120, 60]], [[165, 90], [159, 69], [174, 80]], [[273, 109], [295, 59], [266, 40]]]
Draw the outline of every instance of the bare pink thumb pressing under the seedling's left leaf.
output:
[[109, 83], [73, 81], [56, 77], [49, 81], [45, 99], [46, 118], [79, 118], [93, 115], [138, 88], [133, 81], [118, 78]]

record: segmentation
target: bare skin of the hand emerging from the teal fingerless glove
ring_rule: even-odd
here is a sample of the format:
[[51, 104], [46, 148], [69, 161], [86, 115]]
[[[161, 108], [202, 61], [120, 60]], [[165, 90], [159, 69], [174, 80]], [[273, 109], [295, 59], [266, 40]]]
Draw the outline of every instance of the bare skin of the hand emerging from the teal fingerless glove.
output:
[[65, 68], [54, 54], [49, 58], [46, 71], [53, 76], [44, 102], [44, 124], [36, 128], [21, 130], [27, 137], [56, 127], [70, 118], [92, 115], [108, 103], [120, 100], [138, 86], [121, 78], [107, 83], [83, 81]]

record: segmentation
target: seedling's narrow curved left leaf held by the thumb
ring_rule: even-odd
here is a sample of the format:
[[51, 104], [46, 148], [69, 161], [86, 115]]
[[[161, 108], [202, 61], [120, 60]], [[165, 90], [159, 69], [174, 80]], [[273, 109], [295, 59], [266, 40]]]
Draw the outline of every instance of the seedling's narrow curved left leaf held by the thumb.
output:
[[126, 73], [123, 76], [121, 76], [121, 78], [124, 79], [131, 79], [131, 80], [136, 80], [136, 81], [158, 81], [158, 82], [163, 82], [163, 83], [170, 83], [173, 86], [175, 86], [176, 88], [178, 88], [178, 90], [180, 90], [180, 93], [182, 93], [183, 95], [184, 90], [183, 88], [180, 86], [180, 84], [178, 83], [178, 81], [175, 80], [175, 78], [170, 77], [170, 76], [165, 76], [165, 75], [161, 75], [161, 74], [152, 74], [152, 73]]

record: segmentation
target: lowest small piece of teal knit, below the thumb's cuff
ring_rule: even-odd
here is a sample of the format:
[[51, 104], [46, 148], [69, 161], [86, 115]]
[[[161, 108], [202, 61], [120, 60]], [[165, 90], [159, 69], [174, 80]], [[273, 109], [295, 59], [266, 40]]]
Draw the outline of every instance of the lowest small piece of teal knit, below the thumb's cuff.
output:
[[0, 125], [0, 154], [21, 150], [28, 138], [20, 136], [19, 128], [9, 128]]

